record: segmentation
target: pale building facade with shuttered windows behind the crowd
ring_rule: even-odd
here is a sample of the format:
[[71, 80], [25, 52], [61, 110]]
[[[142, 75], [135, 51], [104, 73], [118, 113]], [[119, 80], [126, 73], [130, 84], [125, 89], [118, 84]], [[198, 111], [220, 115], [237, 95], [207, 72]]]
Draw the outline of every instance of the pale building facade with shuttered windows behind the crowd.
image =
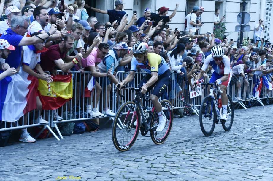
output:
[[[67, 4], [72, 1], [65, 0]], [[179, 8], [175, 17], [169, 23], [171, 28], [178, 28], [178, 30], [184, 30], [185, 16], [190, 12], [194, 6], [202, 6], [205, 11], [201, 15], [201, 22], [204, 25], [200, 27], [200, 33], [207, 33], [207, 31], [213, 32], [213, 20], [214, 10], [220, 9], [220, 19], [225, 15], [224, 21], [226, 22], [225, 34], [228, 35], [228, 39], [233, 39], [234, 42], [238, 39], [238, 32], [235, 31], [235, 26], [239, 25], [237, 22], [237, 15], [242, 12], [242, 0], [123, 0], [126, 4], [124, 10], [128, 13], [128, 20], [130, 21], [133, 11], [136, 10], [138, 18], [144, 14], [146, 8], [151, 8], [152, 12], [156, 12], [158, 8], [165, 6], [170, 8], [168, 15], [172, 14], [176, 7], [176, 3], [179, 4]], [[93, 4], [92, 7], [107, 10], [114, 9], [114, 0], [86, 0], [85, 3]], [[253, 39], [255, 24], [258, 24], [259, 19], [264, 19], [265, 30], [262, 32], [262, 37], [270, 41], [270, 34], [273, 31], [272, 26], [272, 4], [273, 0], [247, 0], [245, 11], [250, 14], [250, 22], [247, 25], [251, 26], [250, 32], [244, 32], [244, 37]], [[107, 14], [96, 13], [98, 21], [107, 22], [109, 16]], [[273, 40], [271, 40], [273, 41]]]

